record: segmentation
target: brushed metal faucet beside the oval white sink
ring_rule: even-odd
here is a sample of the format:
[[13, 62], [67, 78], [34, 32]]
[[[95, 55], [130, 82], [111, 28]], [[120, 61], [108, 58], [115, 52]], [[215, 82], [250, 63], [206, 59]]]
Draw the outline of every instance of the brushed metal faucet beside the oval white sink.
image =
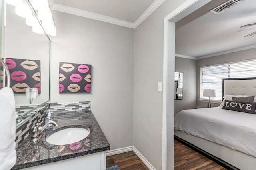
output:
[[38, 140], [40, 140], [42, 138], [42, 135], [41, 135], [42, 132], [49, 124], [52, 124], [53, 126], [58, 126], [58, 123], [54, 121], [46, 123], [43, 127], [42, 127], [42, 123], [43, 122], [36, 123], [36, 127], [34, 127], [32, 130], [32, 136], [31, 136], [30, 142], [37, 142]]

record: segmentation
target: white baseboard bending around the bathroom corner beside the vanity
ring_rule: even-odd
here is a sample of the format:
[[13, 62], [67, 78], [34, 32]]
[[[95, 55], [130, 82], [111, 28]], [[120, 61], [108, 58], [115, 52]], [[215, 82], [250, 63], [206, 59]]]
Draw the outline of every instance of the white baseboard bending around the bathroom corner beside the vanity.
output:
[[148, 160], [134, 146], [128, 146], [125, 148], [109, 150], [107, 151], [107, 156], [122, 154], [124, 152], [129, 152], [129, 151], [133, 151], [140, 158], [140, 160], [142, 160], [142, 162], [148, 167], [149, 170], [156, 170], [156, 168], [154, 168], [154, 166], [152, 166], [150, 162], [148, 162]]

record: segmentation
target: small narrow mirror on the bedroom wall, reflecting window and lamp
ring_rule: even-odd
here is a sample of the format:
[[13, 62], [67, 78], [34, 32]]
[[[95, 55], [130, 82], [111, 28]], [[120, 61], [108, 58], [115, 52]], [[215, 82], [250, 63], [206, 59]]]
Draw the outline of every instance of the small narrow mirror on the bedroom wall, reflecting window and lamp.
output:
[[183, 99], [183, 72], [175, 72], [174, 99]]

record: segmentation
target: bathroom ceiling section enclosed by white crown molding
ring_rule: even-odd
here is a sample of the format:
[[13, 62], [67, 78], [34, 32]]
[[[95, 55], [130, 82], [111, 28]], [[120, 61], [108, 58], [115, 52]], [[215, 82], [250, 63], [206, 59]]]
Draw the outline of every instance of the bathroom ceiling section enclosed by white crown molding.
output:
[[56, 4], [134, 23], [155, 0], [54, 0]]

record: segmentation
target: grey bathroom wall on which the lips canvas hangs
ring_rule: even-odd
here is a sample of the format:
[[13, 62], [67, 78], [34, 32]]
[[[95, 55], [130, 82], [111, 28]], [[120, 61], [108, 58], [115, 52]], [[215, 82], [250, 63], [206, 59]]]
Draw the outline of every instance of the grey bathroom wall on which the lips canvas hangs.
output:
[[[51, 102], [91, 101], [111, 149], [132, 146], [134, 29], [53, 11]], [[91, 94], [59, 94], [59, 62], [92, 65]]]

